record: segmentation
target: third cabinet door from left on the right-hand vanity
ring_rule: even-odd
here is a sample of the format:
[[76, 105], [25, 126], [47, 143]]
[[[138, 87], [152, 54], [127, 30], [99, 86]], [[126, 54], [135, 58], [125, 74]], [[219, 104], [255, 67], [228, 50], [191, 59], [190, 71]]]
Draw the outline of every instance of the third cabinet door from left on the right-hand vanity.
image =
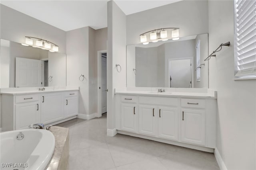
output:
[[178, 110], [172, 107], [159, 107], [158, 136], [178, 141]]

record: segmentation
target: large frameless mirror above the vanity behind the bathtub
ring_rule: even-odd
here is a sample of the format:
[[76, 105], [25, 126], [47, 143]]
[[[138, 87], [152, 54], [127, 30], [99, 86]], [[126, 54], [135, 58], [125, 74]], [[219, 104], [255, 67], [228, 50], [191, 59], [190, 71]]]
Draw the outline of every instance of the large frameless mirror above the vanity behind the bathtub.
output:
[[66, 86], [66, 54], [0, 41], [0, 88]]

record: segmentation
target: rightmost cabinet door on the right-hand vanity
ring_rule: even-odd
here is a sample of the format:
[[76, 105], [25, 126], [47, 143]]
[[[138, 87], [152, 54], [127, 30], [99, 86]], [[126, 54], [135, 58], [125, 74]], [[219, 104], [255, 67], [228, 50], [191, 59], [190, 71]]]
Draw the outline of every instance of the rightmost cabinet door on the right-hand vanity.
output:
[[182, 109], [181, 140], [186, 143], [205, 145], [205, 111]]

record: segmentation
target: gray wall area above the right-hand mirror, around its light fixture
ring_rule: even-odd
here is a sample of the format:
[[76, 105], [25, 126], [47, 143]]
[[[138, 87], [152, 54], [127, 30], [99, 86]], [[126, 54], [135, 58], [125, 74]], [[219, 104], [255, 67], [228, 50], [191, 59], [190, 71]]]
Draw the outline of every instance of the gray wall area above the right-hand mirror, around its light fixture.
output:
[[179, 27], [180, 37], [208, 33], [208, 1], [183, 0], [127, 16], [127, 45], [140, 43], [140, 34]]

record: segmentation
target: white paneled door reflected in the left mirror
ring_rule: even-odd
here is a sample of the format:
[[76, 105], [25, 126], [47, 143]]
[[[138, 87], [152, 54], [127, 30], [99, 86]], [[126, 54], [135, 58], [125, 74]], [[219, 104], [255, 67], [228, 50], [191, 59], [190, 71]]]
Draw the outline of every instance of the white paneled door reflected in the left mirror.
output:
[[15, 87], [40, 87], [41, 61], [15, 58]]

